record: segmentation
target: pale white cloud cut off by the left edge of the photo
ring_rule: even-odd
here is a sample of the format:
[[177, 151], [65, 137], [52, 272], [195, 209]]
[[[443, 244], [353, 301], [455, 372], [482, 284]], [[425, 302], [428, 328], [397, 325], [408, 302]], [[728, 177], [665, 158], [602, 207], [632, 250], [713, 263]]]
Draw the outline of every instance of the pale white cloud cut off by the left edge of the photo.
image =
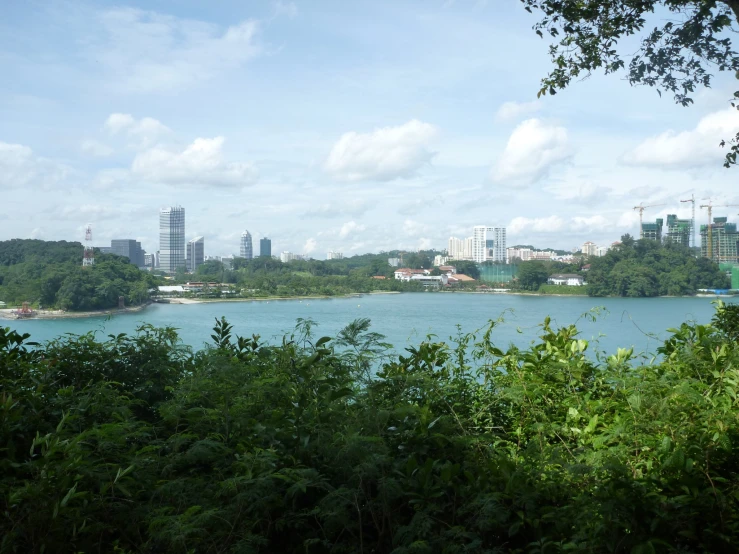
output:
[[36, 156], [28, 146], [0, 142], [0, 190], [51, 188], [70, 173], [69, 167]]

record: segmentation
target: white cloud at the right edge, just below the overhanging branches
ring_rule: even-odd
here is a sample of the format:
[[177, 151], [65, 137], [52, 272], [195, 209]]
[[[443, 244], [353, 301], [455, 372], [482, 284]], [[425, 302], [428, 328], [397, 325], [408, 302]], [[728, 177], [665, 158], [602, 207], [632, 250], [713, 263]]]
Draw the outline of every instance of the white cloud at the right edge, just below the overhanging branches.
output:
[[739, 111], [729, 108], [703, 117], [695, 129], [679, 133], [669, 130], [642, 142], [623, 155], [626, 165], [688, 168], [719, 164], [726, 150], [722, 139], [736, 136]]

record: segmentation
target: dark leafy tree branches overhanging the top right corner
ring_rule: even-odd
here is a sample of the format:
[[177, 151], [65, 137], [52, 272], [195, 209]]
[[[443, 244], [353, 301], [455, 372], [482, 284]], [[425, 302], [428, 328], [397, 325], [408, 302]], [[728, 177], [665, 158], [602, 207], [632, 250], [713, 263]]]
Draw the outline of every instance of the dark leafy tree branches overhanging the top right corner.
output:
[[[555, 69], [542, 80], [540, 96], [593, 71], [616, 73], [627, 64], [630, 84], [656, 87], [660, 95], [669, 92], [683, 106], [693, 103], [699, 87], [711, 86], [712, 71], [739, 78], [739, 54], [732, 48], [737, 0], [521, 1], [527, 11], [543, 14], [536, 33], [557, 41], [550, 47]], [[650, 30], [653, 19], [657, 26]], [[630, 37], [639, 35], [634, 48]], [[739, 99], [739, 91], [734, 97]], [[739, 109], [736, 100], [731, 105]], [[739, 132], [730, 140], [724, 165], [735, 165], [738, 154]]]

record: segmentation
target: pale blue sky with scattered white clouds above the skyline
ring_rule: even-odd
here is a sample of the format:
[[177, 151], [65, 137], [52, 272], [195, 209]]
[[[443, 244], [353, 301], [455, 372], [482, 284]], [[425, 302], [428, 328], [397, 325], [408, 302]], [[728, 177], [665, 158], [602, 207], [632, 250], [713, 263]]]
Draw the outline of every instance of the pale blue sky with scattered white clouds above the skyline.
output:
[[739, 204], [718, 147], [736, 80], [690, 108], [623, 75], [537, 99], [535, 22], [519, 0], [2, 2], [0, 240], [89, 223], [96, 246], [154, 252], [181, 205], [206, 255], [244, 230], [322, 258], [474, 225], [573, 249], [638, 235], [640, 203]]

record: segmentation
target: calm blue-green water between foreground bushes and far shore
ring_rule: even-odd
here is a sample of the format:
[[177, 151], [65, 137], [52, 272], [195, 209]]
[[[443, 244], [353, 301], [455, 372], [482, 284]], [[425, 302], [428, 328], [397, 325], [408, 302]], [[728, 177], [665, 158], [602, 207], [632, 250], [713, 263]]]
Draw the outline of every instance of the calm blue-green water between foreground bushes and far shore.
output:
[[[708, 323], [714, 307], [711, 298], [587, 298], [532, 297], [494, 294], [392, 294], [325, 300], [270, 300], [257, 302], [206, 303], [189, 305], [154, 304], [143, 312], [57, 320], [0, 320], [1, 326], [28, 332], [32, 339], [45, 341], [64, 333], [98, 331], [103, 335], [131, 333], [141, 323], [173, 326], [182, 340], [200, 347], [210, 340], [216, 317], [225, 316], [242, 336], [259, 334], [279, 341], [298, 318], [317, 323], [318, 336], [333, 336], [343, 326], [360, 317], [372, 320], [372, 330], [384, 334], [397, 350], [417, 344], [428, 334], [441, 339], [456, 335], [460, 324], [474, 331], [503, 312], [505, 323], [494, 335], [499, 346], [513, 342], [520, 346], [534, 338], [544, 317], [558, 325], [578, 322], [582, 337], [598, 339], [607, 351], [617, 346], [634, 346], [638, 352], [653, 352], [669, 327], [686, 320]], [[736, 300], [735, 300], [736, 301]], [[583, 314], [605, 308], [596, 322]], [[520, 330], [520, 332], [519, 332]]]

